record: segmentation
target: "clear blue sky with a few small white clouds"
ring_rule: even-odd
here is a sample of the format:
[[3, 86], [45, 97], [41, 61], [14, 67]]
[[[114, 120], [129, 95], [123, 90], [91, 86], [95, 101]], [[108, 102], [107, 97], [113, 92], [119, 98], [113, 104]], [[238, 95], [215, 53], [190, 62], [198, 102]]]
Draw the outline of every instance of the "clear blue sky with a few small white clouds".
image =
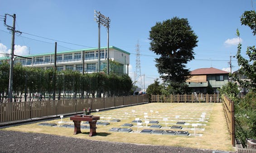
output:
[[[147, 87], [159, 78], [155, 67], [158, 56], [149, 50], [148, 39], [150, 28], [156, 22], [175, 16], [188, 19], [198, 36], [195, 59], [187, 65], [190, 70], [208, 67], [229, 70], [229, 56], [237, 52], [237, 28], [242, 55], [246, 56], [247, 46], [255, 45], [251, 30], [240, 23], [244, 11], [253, 7], [256, 0], [0, 0], [0, 15], [16, 14], [16, 30], [24, 33], [15, 37], [15, 54], [22, 56], [53, 52], [54, 40], [77, 44], [58, 42], [57, 51], [97, 47], [94, 10], [100, 11], [111, 19], [110, 46], [131, 53], [129, 75], [132, 79], [139, 41], [141, 74], [145, 74]], [[7, 23], [12, 25], [12, 19], [8, 18]], [[107, 45], [106, 33], [106, 28], [101, 26], [101, 46]], [[0, 19], [0, 53], [8, 52], [10, 46], [11, 34]], [[236, 58], [232, 58], [232, 65], [232, 71], [239, 68]]]

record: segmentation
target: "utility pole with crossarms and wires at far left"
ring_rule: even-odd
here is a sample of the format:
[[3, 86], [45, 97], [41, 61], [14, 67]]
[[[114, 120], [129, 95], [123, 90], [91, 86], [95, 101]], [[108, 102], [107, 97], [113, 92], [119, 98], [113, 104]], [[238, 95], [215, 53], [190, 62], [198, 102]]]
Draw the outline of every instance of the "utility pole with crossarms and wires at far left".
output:
[[[13, 18], [13, 26], [9, 26], [6, 24], [6, 16], [10, 16]], [[10, 53], [10, 76], [9, 76], [9, 88], [8, 88], [8, 100], [9, 102], [12, 102], [12, 83], [13, 83], [13, 64], [14, 64], [14, 37], [15, 37], [15, 32], [20, 31], [15, 31], [15, 21], [16, 21], [16, 14], [10, 15], [10, 14], [5, 14], [5, 26], [7, 27], [8, 30], [12, 32], [12, 42], [11, 42], [11, 53]]]

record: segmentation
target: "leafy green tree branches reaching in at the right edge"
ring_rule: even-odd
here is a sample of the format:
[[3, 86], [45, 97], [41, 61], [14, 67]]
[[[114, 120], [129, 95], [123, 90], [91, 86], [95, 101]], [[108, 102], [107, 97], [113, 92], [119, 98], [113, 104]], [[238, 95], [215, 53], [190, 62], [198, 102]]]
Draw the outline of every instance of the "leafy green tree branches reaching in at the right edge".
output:
[[[253, 35], [256, 35], [256, 12], [245, 11], [241, 17], [242, 25], [247, 25], [251, 28]], [[239, 31], [237, 30], [237, 36], [239, 37]], [[242, 44], [239, 43], [237, 46], [237, 62], [241, 67], [238, 70], [238, 74], [243, 74], [248, 77], [249, 80], [242, 80], [235, 74], [232, 79], [240, 83], [243, 87], [249, 88], [256, 92], [256, 48], [255, 46], [247, 47], [246, 55], [249, 56], [249, 60], [246, 60], [241, 55]]]

